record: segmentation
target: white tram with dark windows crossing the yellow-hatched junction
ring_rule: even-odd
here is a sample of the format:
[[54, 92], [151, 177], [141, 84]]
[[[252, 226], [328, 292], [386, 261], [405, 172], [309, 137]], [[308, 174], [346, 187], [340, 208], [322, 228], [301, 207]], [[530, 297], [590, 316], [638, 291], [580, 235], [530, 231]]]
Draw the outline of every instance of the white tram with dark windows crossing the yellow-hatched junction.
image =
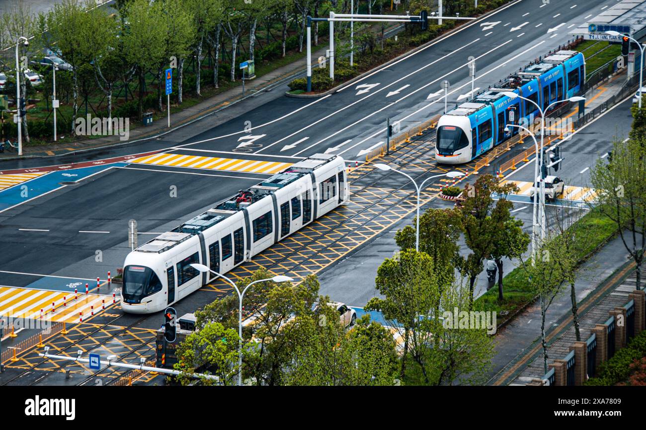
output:
[[121, 309], [161, 311], [214, 278], [191, 263], [224, 274], [348, 198], [340, 156], [316, 154], [299, 161], [130, 252]]

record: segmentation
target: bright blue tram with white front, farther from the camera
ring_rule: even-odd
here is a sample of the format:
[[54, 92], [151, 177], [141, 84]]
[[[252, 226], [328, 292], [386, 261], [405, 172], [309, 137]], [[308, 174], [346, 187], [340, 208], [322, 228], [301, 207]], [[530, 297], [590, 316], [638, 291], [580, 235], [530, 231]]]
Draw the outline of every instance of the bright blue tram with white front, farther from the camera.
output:
[[495, 88], [481, 92], [474, 100], [441, 116], [437, 123], [435, 159], [444, 164], [467, 163], [518, 134], [517, 127], [510, 127], [511, 133], [505, 133], [509, 109], [516, 112], [515, 124], [532, 124], [540, 115], [534, 104], [512, 99], [503, 92], [515, 92], [544, 110], [554, 101], [581, 94], [584, 82], [585, 59], [580, 52], [560, 50], [528, 65], [500, 81]]

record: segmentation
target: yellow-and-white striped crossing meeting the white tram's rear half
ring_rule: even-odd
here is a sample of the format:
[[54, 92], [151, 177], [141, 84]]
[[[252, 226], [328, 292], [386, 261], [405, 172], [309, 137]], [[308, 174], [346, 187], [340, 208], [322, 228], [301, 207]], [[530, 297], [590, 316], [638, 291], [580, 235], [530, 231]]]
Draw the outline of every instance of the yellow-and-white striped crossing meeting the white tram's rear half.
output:
[[285, 170], [287, 169], [287, 167], [292, 165], [292, 163], [281, 163], [278, 161], [201, 157], [183, 154], [170, 154], [168, 152], [161, 152], [152, 156], [131, 159], [129, 160], [129, 163], [266, 174], [275, 174], [281, 172], [282, 170]]

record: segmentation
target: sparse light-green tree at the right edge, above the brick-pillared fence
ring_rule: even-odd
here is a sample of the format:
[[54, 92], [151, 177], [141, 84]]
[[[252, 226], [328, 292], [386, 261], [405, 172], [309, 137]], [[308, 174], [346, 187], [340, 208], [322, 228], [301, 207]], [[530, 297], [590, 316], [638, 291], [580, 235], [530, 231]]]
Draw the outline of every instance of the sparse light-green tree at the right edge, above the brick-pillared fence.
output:
[[621, 241], [635, 262], [638, 289], [646, 245], [645, 145], [643, 139], [617, 139], [612, 147], [612, 161], [606, 165], [603, 159], [598, 159], [590, 173], [592, 187], [598, 190], [599, 210], [617, 224]]

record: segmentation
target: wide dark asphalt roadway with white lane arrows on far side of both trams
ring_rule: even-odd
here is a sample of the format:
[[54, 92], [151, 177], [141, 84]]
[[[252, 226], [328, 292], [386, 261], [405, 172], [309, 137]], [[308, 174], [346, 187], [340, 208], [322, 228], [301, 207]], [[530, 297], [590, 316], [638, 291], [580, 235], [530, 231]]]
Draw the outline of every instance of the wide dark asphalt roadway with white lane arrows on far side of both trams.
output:
[[[467, 94], [468, 57], [476, 58], [475, 87], [493, 85], [567, 41], [568, 26], [585, 21], [587, 15], [601, 12], [601, 6], [614, 1], [587, 1], [585, 7], [578, 3], [581, 1], [510, 3], [494, 15], [463, 25], [424, 50], [380, 68], [331, 96], [259, 96], [243, 102], [251, 110], [217, 126], [213, 125], [217, 118], [207, 118], [161, 140], [55, 159], [5, 161], [0, 169], [72, 163], [169, 147], [181, 148], [173, 150], [178, 154], [213, 156], [209, 151], [224, 151], [239, 157], [305, 157], [328, 150], [346, 159], [360, 159], [360, 150], [382, 140], [379, 136], [386, 117], [402, 121], [405, 127], [443, 111], [443, 99], [429, 102], [426, 97], [439, 91], [444, 79], [452, 83], [450, 104]], [[248, 136], [244, 128], [249, 124], [251, 134], [262, 137], [238, 148], [240, 137]], [[259, 181], [233, 173], [207, 177], [189, 174], [188, 169], [156, 170], [111, 169], [80, 185], [56, 190], [0, 213], [0, 270], [94, 278], [97, 271], [121, 266], [128, 251], [124, 246], [127, 220], [138, 220], [140, 231], [163, 231]], [[171, 185], [177, 185], [180, 191], [178, 198], [172, 200], [168, 197]], [[81, 233], [87, 230], [110, 233]], [[96, 261], [97, 250], [102, 251], [103, 261]], [[1, 283], [20, 286], [32, 280], [30, 276], [3, 273]]]

